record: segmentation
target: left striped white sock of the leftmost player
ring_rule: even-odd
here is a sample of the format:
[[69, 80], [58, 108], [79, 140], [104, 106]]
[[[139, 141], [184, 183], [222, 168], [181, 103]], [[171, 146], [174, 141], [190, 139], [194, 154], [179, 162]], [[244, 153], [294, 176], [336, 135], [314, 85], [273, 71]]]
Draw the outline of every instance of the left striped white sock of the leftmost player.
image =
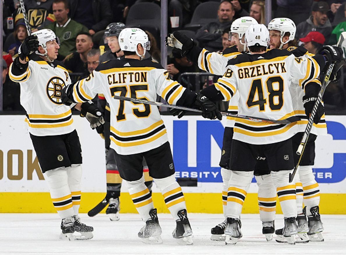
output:
[[48, 170], [43, 176], [48, 184], [53, 205], [60, 218], [73, 216], [72, 197], [65, 167]]

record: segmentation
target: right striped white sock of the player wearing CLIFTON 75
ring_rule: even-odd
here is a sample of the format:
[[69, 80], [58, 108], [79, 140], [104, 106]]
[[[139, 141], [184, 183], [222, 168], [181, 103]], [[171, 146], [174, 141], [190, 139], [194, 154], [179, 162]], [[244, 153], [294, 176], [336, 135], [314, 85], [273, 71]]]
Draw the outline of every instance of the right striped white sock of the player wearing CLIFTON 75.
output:
[[175, 221], [180, 220], [178, 211], [186, 209], [184, 194], [180, 185], [175, 181], [174, 174], [162, 179], [155, 179], [156, 187], [160, 189], [163, 199]]

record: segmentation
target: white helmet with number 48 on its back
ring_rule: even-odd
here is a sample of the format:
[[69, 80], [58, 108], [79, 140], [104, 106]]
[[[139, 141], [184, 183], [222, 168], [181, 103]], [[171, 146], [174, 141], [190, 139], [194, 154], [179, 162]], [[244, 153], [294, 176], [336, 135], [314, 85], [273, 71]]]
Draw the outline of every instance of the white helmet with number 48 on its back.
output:
[[264, 46], [269, 43], [269, 31], [263, 24], [251, 24], [245, 32], [245, 42], [247, 47]]

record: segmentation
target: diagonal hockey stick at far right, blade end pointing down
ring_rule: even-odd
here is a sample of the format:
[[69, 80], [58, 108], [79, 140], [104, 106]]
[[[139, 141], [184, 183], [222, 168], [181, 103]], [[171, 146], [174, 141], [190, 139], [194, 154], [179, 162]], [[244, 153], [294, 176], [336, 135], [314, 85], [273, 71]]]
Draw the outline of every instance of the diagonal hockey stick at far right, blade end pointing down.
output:
[[[346, 32], [343, 32], [340, 37], [339, 37], [339, 41], [337, 43], [337, 46], [341, 46], [341, 44], [343, 43], [344, 39], [346, 39]], [[337, 71], [343, 66], [345, 65], [345, 61], [341, 61], [338, 65], [336, 65], [335, 67], [335, 70], [334, 72], [337, 73]], [[315, 104], [313, 105], [313, 108], [312, 108], [312, 111], [311, 111], [311, 114], [310, 114], [310, 117], [309, 117], [309, 121], [308, 121], [308, 124], [305, 128], [305, 131], [304, 131], [304, 134], [303, 134], [303, 137], [300, 141], [300, 144], [298, 146], [298, 149], [296, 151], [297, 155], [300, 155], [299, 159], [298, 159], [298, 162], [297, 162], [297, 165], [295, 165], [294, 169], [293, 169], [293, 172], [290, 173], [290, 177], [289, 177], [289, 182], [292, 182], [293, 181], [293, 178], [294, 178], [294, 175], [295, 173], [297, 173], [297, 170], [298, 170], [298, 167], [299, 167], [299, 164], [300, 164], [300, 160], [302, 159], [303, 157], [303, 153], [304, 153], [304, 150], [305, 150], [305, 146], [308, 142], [308, 139], [309, 139], [309, 135], [310, 135], [310, 132], [311, 132], [311, 129], [312, 129], [312, 125], [313, 125], [313, 118], [315, 117], [316, 115], [316, 111], [317, 111], [317, 108], [318, 108], [318, 105], [321, 103], [322, 101], [322, 97], [323, 97], [323, 94], [330, 82], [329, 78], [330, 78], [330, 75], [331, 73], [333, 72], [333, 69], [334, 69], [334, 66], [335, 64], [334, 63], [330, 63], [329, 64], [329, 67], [327, 69], [327, 73], [325, 75], [325, 78], [323, 80], [323, 83], [322, 83], [322, 86], [321, 86], [321, 90], [320, 92], [318, 93], [318, 97], [317, 97], [317, 100], [315, 102]]]

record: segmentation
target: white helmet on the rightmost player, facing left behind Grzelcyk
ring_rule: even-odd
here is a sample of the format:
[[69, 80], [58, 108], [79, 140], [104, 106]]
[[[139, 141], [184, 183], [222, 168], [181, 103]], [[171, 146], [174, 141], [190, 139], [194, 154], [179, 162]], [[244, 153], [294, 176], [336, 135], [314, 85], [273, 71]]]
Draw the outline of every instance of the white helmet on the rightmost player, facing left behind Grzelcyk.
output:
[[[293, 41], [294, 40], [294, 36], [295, 36], [295, 31], [297, 30], [295, 27], [295, 24], [293, 22], [293, 20], [289, 19], [289, 18], [275, 18], [272, 19], [269, 24], [268, 24], [268, 30], [278, 30], [280, 31], [280, 42], [281, 45], [279, 47], [279, 49], [281, 49], [282, 45], [288, 43], [289, 41]], [[287, 42], [283, 42], [282, 39], [285, 35], [285, 33], [289, 32], [290, 36], [288, 38]]]

